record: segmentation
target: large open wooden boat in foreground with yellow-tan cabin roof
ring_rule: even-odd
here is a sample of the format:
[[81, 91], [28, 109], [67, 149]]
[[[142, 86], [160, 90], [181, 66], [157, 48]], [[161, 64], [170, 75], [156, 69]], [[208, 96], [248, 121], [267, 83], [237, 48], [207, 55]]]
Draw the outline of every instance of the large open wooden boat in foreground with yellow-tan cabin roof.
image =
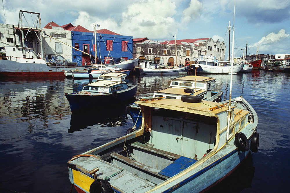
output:
[[233, 106], [197, 96], [136, 103], [139, 130], [69, 160], [78, 192], [200, 192], [258, 151], [258, 117], [242, 97]]

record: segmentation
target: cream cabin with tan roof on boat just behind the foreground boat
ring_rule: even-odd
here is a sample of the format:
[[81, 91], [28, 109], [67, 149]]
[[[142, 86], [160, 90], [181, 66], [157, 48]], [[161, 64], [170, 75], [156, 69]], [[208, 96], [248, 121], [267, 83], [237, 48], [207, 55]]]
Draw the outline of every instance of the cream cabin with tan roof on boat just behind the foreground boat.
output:
[[210, 100], [219, 93], [211, 90], [211, 82], [213, 81], [215, 81], [215, 78], [204, 76], [178, 77], [171, 80], [169, 88], [155, 91], [153, 97], [180, 99], [183, 95], [195, 95], [200, 96], [202, 100]]

